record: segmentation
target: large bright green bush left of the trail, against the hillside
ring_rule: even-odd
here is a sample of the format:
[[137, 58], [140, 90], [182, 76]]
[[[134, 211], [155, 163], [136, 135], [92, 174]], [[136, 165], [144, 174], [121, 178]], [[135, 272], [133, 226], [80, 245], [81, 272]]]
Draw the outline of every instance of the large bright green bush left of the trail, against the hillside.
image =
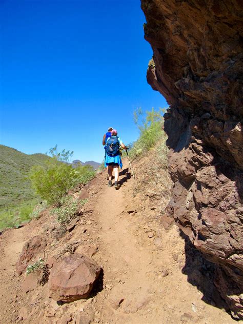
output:
[[60, 206], [69, 189], [79, 183], [87, 183], [94, 177], [95, 172], [91, 166], [79, 166], [73, 169], [68, 164], [72, 152], [63, 150], [62, 153], [56, 153], [56, 146], [50, 149], [50, 152], [51, 160], [47, 161], [45, 167], [33, 167], [30, 179], [36, 194], [47, 200], [48, 204]]

